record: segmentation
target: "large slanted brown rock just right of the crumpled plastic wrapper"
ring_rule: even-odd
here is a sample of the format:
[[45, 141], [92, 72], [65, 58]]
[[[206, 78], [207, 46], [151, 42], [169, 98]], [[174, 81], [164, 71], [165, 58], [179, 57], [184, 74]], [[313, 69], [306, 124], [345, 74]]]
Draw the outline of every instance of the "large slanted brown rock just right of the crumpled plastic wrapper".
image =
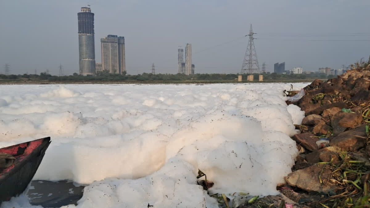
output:
[[362, 148], [366, 143], [365, 126], [357, 127], [340, 133], [330, 140], [330, 146], [339, 147], [346, 151], [355, 151]]

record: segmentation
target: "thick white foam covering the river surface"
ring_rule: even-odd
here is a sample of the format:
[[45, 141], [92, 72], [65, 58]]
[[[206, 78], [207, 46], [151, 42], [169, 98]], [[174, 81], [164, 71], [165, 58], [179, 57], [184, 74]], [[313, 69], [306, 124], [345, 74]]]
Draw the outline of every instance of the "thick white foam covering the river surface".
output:
[[[0, 146], [50, 136], [34, 180], [90, 184], [77, 207], [217, 207], [198, 169], [211, 194], [253, 195], [277, 194], [291, 171], [304, 112], [285, 104], [289, 88], [1, 85]], [[5, 205], [30, 206], [24, 197]]]

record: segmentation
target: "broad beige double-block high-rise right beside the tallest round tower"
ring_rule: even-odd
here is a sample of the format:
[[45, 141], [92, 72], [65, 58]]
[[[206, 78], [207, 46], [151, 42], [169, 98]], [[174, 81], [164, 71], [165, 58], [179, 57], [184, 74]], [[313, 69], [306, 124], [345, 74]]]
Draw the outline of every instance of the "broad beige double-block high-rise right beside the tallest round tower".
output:
[[107, 70], [113, 74], [121, 74], [126, 70], [125, 38], [108, 35], [101, 38], [100, 41], [102, 70]]

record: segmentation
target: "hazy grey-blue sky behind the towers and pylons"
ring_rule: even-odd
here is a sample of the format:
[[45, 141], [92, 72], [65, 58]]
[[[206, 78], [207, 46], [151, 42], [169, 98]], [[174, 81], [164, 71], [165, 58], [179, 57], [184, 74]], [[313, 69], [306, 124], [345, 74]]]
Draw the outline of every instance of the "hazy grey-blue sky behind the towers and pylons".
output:
[[240, 73], [250, 24], [260, 67], [341, 68], [370, 55], [369, 0], [0, 0], [0, 73], [78, 73], [77, 13], [95, 14], [100, 38], [125, 37], [128, 74], [177, 73], [192, 44], [195, 73]]

